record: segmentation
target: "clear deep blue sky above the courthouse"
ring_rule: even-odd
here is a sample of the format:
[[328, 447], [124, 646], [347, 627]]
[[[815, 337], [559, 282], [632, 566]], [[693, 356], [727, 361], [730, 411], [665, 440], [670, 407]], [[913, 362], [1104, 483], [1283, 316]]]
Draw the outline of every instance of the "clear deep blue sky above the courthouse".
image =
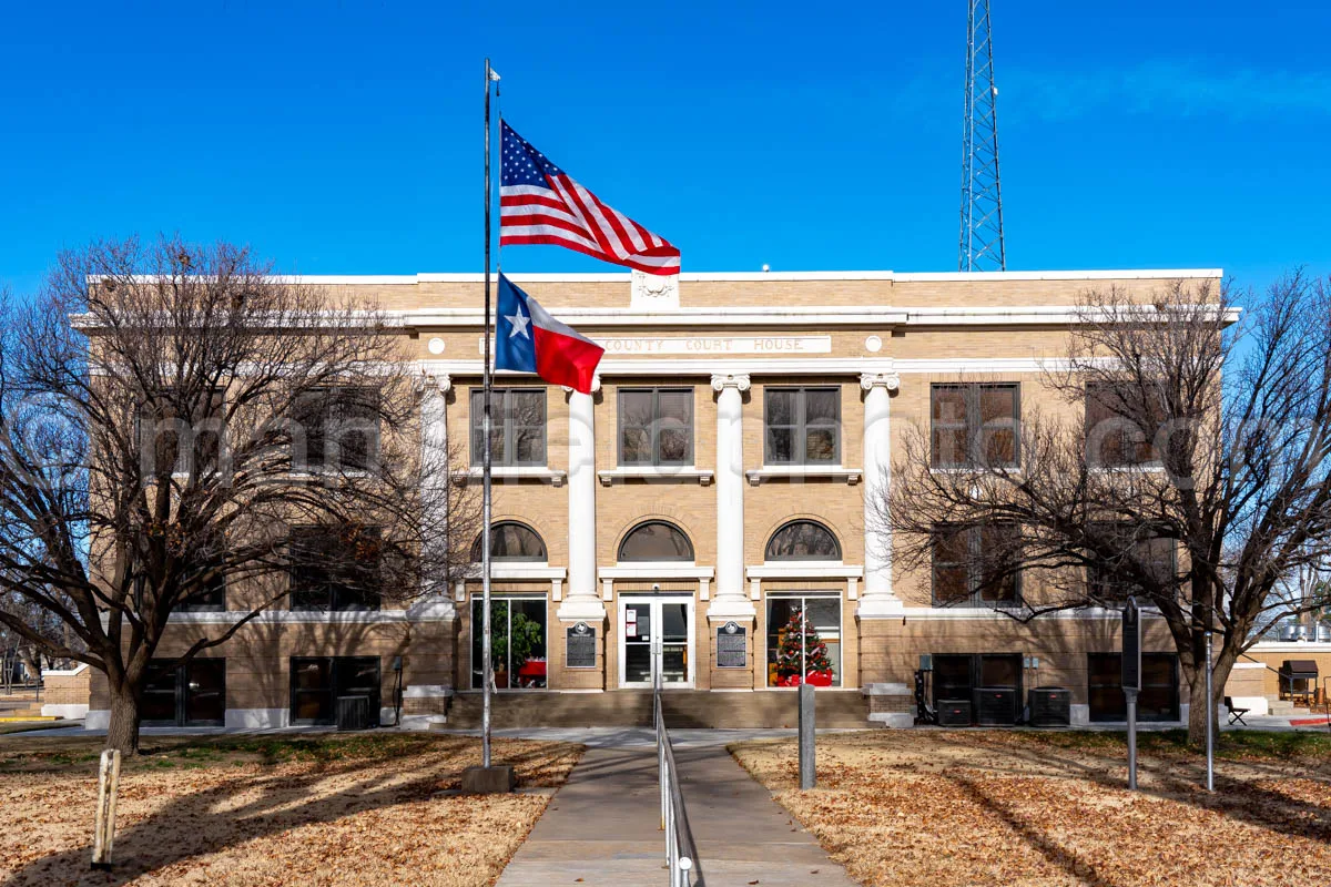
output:
[[[486, 55], [514, 126], [685, 270], [956, 270], [965, 7], [12, 3], [0, 285], [136, 231], [480, 270]], [[1010, 269], [1331, 273], [1331, 8], [993, 7]]]

